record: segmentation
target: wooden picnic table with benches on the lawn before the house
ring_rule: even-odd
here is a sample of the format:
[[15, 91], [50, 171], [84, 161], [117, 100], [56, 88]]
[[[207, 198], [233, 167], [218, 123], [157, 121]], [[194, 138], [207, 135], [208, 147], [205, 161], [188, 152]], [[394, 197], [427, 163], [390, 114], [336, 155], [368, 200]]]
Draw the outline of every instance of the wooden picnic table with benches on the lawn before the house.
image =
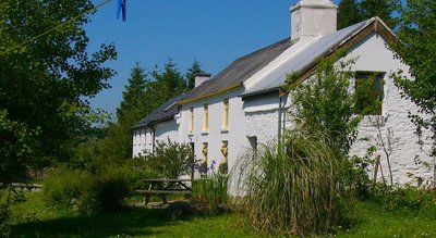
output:
[[144, 205], [148, 204], [152, 196], [160, 196], [164, 203], [168, 203], [167, 195], [191, 195], [192, 189], [186, 185], [192, 179], [168, 179], [168, 178], [153, 178], [145, 179], [149, 183], [148, 189], [137, 189], [137, 193], [144, 195]]

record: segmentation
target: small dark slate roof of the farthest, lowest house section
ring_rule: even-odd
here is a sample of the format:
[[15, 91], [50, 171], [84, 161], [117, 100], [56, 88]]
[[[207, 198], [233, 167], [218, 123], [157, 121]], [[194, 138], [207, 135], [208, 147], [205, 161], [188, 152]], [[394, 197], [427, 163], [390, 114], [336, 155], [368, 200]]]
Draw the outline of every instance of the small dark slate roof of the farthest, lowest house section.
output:
[[150, 114], [148, 114], [145, 118], [141, 120], [136, 125], [132, 127], [132, 129], [140, 128], [140, 127], [146, 127], [153, 123], [156, 122], [162, 122], [166, 120], [172, 118], [175, 114], [179, 113], [179, 107], [178, 102], [180, 99], [183, 97], [183, 95], [174, 97], [164, 104], [161, 104], [159, 108], [157, 108], [155, 111], [153, 111]]

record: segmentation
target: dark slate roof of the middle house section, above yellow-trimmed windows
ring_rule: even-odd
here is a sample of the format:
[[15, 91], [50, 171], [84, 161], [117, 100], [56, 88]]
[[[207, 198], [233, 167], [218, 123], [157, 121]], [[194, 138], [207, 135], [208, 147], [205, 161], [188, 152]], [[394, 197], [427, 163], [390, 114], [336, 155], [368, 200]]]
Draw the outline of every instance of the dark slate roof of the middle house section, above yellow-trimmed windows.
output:
[[290, 46], [291, 39], [286, 38], [271, 46], [268, 46], [233, 61], [233, 63], [231, 63], [227, 68], [221, 71], [215, 77], [189, 91], [182, 98], [182, 100], [202, 97], [219, 91], [234, 84], [242, 84], [244, 80], [249, 79], [256, 72], [265, 67], [269, 62], [280, 55]]

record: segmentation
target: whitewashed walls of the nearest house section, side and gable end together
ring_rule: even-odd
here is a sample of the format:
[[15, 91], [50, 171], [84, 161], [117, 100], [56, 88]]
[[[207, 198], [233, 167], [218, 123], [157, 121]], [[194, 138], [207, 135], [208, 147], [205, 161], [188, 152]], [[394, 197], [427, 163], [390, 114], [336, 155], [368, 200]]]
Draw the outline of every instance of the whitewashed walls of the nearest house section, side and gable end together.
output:
[[[431, 179], [433, 171], [422, 164], [415, 164], [415, 158], [432, 164], [429, 156], [420, 150], [414, 135], [415, 126], [408, 118], [409, 112], [416, 112], [416, 107], [407, 99], [401, 98], [399, 89], [393, 85], [389, 74], [398, 68], [408, 72], [408, 68], [393, 58], [385, 47], [386, 41], [377, 34], [372, 34], [350, 49], [346, 60], [356, 59], [353, 71], [386, 72], [384, 85], [383, 116], [389, 116], [386, 125], [382, 126], [382, 135], [386, 140], [387, 129], [392, 128], [395, 138], [398, 139], [396, 149], [391, 154], [392, 177], [395, 183], [411, 183], [411, 174]], [[277, 138], [278, 131], [278, 96], [264, 95], [253, 99], [244, 99], [245, 134], [256, 136], [258, 142], [268, 143]], [[290, 100], [286, 108], [292, 107]], [[377, 145], [377, 127], [370, 122], [375, 116], [365, 116], [359, 127], [359, 137], [351, 150], [351, 154], [364, 155], [367, 148]], [[287, 127], [291, 127], [287, 123]], [[429, 145], [426, 147], [429, 148]], [[387, 160], [384, 151], [378, 147], [374, 156], [380, 155], [385, 177], [388, 175]], [[389, 180], [389, 177], [386, 177]]]

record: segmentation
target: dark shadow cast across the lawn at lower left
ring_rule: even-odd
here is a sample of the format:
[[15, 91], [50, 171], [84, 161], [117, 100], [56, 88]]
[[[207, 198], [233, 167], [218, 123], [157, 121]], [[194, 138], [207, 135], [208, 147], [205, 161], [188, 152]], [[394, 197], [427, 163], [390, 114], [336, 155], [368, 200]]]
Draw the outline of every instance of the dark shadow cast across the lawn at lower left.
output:
[[175, 222], [166, 209], [131, 206], [114, 214], [22, 223], [15, 225], [13, 230], [17, 237], [130, 237], [158, 235], [158, 231], [152, 230], [153, 227], [171, 226]]

